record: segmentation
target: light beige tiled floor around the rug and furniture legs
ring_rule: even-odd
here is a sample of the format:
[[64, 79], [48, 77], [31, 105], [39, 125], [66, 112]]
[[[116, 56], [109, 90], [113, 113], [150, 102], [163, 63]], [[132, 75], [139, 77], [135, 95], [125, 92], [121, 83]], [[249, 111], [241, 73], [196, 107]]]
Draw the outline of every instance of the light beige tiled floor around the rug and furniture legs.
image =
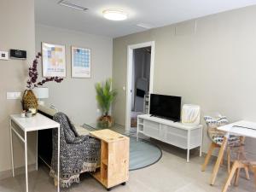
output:
[[[192, 150], [191, 161], [186, 163], [185, 151], [174, 148], [165, 143], [154, 141], [163, 149], [163, 156], [153, 166], [130, 172], [130, 180], [125, 186], [117, 186], [113, 192], [219, 192], [224, 184], [227, 172], [225, 166], [221, 167], [214, 186], [209, 185], [212, 165], [206, 172], [201, 172], [204, 158], [198, 157], [198, 152]], [[253, 175], [251, 180], [244, 178], [241, 172], [239, 187], [230, 187], [229, 191], [253, 192]], [[82, 175], [79, 184], [74, 184], [70, 189], [61, 189], [68, 192], [105, 192], [106, 189], [88, 174]], [[49, 170], [40, 166], [38, 172], [31, 172], [29, 177], [30, 192], [56, 191], [53, 180], [49, 178]], [[7, 178], [0, 181], [0, 192], [24, 191], [24, 176]]]

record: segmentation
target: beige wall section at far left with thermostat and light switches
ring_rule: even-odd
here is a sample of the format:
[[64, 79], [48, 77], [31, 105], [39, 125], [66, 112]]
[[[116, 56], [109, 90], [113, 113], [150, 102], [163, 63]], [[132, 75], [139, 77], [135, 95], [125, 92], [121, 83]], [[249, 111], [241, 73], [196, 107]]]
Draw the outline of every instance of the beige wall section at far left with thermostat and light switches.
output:
[[[26, 50], [27, 59], [0, 60], [0, 177], [10, 176], [9, 114], [20, 113], [20, 100], [6, 100], [7, 91], [26, 89], [27, 69], [35, 54], [34, 1], [1, 0], [0, 50]], [[18, 21], [17, 21], [18, 18]], [[28, 137], [29, 164], [34, 163], [35, 135]], [[14, 137], [15, 166], [24, 166], [24, 144]]]

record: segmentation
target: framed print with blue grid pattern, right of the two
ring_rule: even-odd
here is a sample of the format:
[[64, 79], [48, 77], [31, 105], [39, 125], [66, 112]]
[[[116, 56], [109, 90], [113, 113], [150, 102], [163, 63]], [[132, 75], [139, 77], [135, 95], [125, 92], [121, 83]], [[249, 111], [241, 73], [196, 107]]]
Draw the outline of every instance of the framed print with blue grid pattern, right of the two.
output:
[[72, 77], [90, 78], [90, 49], [71, 47], [72, 49]]

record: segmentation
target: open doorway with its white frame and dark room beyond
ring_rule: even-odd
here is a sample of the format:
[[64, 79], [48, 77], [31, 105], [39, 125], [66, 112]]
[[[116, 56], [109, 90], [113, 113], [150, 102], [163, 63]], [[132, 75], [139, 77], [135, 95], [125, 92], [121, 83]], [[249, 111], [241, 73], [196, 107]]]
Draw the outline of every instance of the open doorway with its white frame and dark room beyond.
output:
[[154, 42], [128, 46], [125, 128], [137, 127], [137, 115], [148, 113], [153, 91]]

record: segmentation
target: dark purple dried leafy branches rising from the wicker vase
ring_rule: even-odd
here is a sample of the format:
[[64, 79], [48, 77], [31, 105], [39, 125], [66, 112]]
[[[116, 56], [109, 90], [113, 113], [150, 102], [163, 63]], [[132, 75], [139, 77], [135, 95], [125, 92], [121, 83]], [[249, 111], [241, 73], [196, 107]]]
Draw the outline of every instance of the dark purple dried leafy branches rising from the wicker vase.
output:
[[35, 87], [42, 86], [43, 84], [50, 81], [61, 83], [61, 81], [63, 80], [62, 78], [59, 78], [59, 77], [50, 77], [50, 78], [44, 78], [42, 81], [37, 82], [38, 81], [38, 59], [41, 56], [42, 56], [41, 53], [38, 53], [38, 55], [36, 55], [36, 58], [32, 63], [32, 67], [29, 67], [28, 69], [29, 79], [26, 82], [26, 87], [30, 90], [32, 90]]

